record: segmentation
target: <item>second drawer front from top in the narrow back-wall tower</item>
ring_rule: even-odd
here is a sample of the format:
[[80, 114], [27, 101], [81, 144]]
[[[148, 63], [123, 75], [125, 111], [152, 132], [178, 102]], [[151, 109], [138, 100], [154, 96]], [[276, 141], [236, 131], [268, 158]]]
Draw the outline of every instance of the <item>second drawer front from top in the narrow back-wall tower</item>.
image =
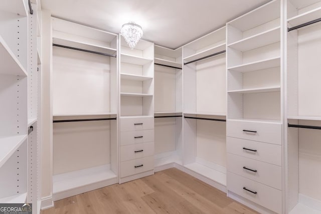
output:
[[139, 130], [120, 132], [120, 145], [145, 143], [154, 141], [154, 130]]

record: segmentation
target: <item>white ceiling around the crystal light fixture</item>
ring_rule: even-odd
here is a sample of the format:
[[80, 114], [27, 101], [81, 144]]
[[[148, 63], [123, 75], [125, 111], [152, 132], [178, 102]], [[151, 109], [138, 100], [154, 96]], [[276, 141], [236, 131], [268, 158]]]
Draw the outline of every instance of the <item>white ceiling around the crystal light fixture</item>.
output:
[[119, 33], [133, 21], [144, 40], [176, 49], [270, 0], [41, 0], [52, 16]]

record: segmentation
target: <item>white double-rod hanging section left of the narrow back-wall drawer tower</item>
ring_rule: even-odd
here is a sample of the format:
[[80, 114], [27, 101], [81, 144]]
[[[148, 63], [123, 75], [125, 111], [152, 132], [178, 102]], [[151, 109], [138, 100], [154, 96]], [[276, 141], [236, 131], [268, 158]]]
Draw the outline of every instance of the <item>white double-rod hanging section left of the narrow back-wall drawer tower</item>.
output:
[[52, 18], [53, 199], [117, 183], [118, 36]]

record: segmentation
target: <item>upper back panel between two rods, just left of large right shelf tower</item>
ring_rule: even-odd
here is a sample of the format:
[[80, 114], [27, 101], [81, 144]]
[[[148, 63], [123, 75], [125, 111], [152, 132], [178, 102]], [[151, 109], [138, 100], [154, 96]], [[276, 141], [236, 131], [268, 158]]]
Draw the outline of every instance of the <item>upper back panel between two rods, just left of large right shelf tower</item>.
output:
[[196, 111], [226, 113], [225, 54], [196, 64]]

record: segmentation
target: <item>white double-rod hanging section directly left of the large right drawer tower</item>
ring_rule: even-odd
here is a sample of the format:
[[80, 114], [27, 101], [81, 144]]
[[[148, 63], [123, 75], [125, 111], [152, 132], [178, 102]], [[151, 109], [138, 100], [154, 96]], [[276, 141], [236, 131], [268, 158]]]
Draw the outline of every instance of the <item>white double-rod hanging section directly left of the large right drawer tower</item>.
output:
[[225, 41], [223, 27], [183, 46], [184, 170], [222, 191], [226, 191]]

